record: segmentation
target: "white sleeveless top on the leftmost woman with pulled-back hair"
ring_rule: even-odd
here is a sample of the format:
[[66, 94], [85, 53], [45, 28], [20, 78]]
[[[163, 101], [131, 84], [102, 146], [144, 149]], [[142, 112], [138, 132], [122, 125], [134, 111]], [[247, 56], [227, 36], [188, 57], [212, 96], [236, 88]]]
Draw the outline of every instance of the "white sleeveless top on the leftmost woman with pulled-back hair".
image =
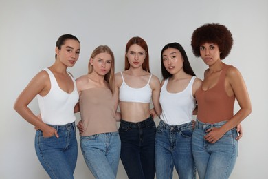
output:
[[73, 123], [76, 120], [74, 106], [78, 103], [79, 98], [76, 81], [68, 73], [74, 82], [74, 90], [71, 93], [67, 93], [63, 89], [60, 89], [54, 74], [48, 68], [44, 70], [49, 74], [51, 87], [47, 95], [37, 95], [43, 122], [49, 125]]

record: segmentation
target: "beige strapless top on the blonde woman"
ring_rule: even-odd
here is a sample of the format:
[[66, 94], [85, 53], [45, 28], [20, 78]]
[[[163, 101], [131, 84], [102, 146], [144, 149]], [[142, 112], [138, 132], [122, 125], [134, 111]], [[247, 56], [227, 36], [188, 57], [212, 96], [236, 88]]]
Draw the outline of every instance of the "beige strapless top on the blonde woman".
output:
[[118, 131], [113, 94], [107, 88], [85, 89], [80, 94], [80, 115], [84, 125], [82, 136]]

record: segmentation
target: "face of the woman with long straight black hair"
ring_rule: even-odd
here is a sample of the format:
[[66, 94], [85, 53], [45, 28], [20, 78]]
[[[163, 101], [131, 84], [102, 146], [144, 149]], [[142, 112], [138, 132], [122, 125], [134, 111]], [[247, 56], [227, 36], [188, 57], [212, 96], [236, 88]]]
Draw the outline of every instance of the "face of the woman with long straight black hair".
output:
[[168, 48], [162, 54], [162, 61], [170, 74], [177, 74], [183, 70], [183, 57], [175, 48]]

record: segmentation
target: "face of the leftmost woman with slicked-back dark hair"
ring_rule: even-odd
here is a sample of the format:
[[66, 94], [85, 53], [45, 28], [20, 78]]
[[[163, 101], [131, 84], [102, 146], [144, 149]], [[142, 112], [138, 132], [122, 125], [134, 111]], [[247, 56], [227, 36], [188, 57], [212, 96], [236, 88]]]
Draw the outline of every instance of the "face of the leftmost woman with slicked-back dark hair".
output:
[[56, 47], [56, 59], [67, 67], [73, 67], [80, 54], [80, 43], [74, 39], [66, 39], [60, 49]]

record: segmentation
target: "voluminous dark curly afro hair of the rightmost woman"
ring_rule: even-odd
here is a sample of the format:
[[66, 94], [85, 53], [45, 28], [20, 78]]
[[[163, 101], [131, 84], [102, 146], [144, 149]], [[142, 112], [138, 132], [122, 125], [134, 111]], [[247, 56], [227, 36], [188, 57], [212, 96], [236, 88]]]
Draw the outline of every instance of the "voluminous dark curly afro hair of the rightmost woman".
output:
[[204, 43], [216, 43], [219, 46], [220, 58], [225, 59], [232, 49], [232, 33], [219, 23], [206, 23], [192, 33], [192, 52], [200, 57], [200, 46]]

